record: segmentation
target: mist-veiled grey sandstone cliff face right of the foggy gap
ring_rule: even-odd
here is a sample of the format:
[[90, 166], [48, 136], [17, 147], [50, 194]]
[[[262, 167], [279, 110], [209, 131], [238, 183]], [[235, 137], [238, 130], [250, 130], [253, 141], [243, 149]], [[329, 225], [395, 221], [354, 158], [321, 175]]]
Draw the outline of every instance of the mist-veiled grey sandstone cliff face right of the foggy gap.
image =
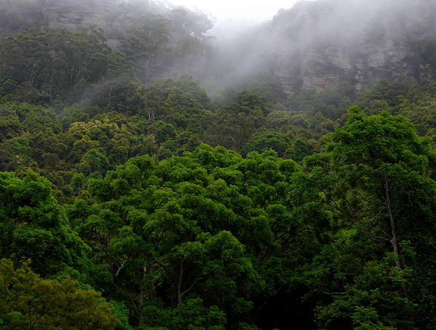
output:
[[271, 22], [273, 74], [287, 93], [344, 80], [360, 90], [405, 76], [434, 84], [428, 64], [418, 73], [410, 58], [418, 40], [434, 36], [435, 10], [433, 0], [299, 2]]

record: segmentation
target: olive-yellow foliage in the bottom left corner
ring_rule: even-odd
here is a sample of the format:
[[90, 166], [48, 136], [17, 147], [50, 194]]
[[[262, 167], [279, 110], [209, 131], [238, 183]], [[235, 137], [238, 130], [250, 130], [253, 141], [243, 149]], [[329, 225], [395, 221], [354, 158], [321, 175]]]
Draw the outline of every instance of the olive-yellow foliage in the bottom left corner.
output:
[[66, 278], [42, 279], [0, 260], [0, 329], [107, 330], [117, 317], [94, 290], [80, 290]]

